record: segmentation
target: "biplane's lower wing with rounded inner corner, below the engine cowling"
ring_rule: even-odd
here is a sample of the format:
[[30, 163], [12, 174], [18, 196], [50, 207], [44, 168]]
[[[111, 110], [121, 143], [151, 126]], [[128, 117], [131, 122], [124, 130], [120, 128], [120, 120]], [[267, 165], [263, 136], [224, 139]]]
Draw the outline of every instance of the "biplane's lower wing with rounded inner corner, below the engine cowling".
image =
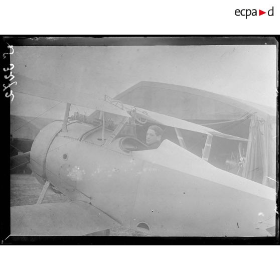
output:
[[11, 207], [11, 235], [86, 235], [119, 223], [83, 201]]

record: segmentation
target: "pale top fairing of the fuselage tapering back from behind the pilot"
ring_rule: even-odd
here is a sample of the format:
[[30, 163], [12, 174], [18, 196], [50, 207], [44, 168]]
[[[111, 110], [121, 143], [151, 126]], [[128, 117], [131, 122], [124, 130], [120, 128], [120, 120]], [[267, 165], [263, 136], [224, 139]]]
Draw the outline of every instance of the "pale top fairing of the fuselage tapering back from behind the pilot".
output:
[[163, 166], [224, 187], [275, 201], [275, 190], [272, 188], [216, 168], [168, 139], [165, 139], [158, 149], [135, 151], [132, 154], [153, 165]]

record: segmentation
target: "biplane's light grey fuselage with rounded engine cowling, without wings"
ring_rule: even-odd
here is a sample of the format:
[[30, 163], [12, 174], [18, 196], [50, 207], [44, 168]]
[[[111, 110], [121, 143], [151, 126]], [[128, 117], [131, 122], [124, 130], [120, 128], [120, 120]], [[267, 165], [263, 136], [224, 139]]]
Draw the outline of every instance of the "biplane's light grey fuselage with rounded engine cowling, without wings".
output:
[[[169, 141], [127, 152], [111, 131], [62, 121], [47, 125], [31, 149], [33, 172], [71, 200], [91, 203], [117, 222], [159, 236], [267, 236], [274, 191], [219, 170]], [[230, 182], [229, 182], [230, 181]], [[236, 187], [235, 187], [236, 186]]]

